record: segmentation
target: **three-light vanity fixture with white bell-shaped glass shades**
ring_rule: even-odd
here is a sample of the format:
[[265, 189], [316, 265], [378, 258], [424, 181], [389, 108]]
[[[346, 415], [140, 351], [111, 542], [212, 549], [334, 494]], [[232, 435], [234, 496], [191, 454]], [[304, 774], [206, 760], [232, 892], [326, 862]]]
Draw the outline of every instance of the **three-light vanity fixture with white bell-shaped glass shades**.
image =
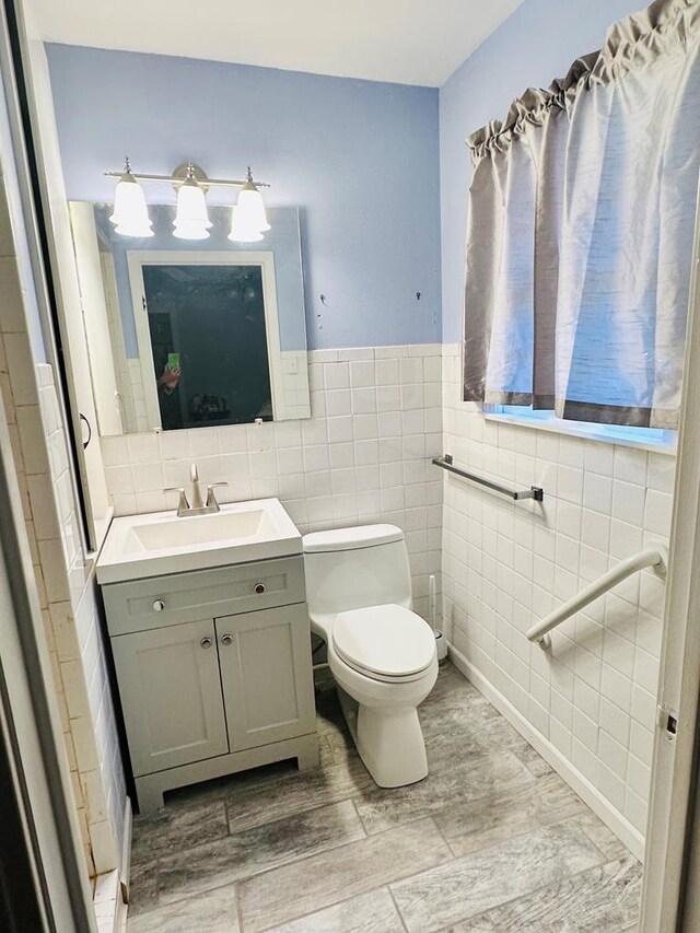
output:
[[105, 172], [105, 175], [119, 179], [114, 195], [114, 212], [109, 220], [116, 232], [124, 236], [153, 236], [153, 224], [139, 182], [165, 182], [173, 185], [177, 194], [173, 236], [179, 240], [206, 240], [209, 236], [211, 221], [205, 196], [212, 185], [241, 189], [231, 212], [229, 240], [236, 243], [258, 243], [262, 240], [262, 234], [270, 229], [259, 191], [259, 188], [270, 186], [267, 182], [254, 182], [249, 167], [244, 182], [208, 178], [194, 162], [178, 165], [172, 175], [143, 175], [132, 172], [127, 159], [122, 172]]

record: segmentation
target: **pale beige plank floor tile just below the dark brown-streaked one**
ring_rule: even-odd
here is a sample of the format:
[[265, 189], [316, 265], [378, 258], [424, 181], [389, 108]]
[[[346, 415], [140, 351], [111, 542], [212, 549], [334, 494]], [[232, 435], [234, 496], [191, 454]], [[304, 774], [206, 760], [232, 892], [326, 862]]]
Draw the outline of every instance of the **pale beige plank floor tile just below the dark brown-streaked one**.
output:
[[257, 875], [240, 887], [245, 933], [258, 933], [450, 859], [431, 819]]

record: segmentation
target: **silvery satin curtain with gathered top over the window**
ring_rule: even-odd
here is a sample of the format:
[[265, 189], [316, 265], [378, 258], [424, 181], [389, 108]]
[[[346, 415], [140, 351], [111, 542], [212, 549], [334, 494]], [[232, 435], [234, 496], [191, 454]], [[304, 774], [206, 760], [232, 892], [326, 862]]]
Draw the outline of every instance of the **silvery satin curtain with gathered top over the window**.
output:
[[465, 399], [673, 428], [700, 168], [700, 3], [661, 0], [475, 133]]

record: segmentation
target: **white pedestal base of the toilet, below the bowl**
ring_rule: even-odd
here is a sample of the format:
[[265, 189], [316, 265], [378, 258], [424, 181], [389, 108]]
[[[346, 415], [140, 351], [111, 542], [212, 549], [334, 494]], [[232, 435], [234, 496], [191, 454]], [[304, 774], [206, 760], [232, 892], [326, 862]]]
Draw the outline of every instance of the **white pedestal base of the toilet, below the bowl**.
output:
[[376, 709], [337, 687], [360, 758], [380, 788], [402, 788], [428, 777], [425, 743], [416, 707]]

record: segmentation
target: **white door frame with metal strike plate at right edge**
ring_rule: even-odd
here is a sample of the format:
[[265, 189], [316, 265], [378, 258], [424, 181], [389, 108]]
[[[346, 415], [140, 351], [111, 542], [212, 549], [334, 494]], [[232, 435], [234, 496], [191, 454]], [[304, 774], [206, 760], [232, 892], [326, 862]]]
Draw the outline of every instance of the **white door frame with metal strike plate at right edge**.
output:
[[688, 872], [693, 821], [696, 851], [700, 845], [700, 825], [693, 820], [700, 699], [699, 218], [697, 210], [640, 933], [691, 933], [697, 926], [685, 924], [684, 903], [700, 898], [700, 870]]

